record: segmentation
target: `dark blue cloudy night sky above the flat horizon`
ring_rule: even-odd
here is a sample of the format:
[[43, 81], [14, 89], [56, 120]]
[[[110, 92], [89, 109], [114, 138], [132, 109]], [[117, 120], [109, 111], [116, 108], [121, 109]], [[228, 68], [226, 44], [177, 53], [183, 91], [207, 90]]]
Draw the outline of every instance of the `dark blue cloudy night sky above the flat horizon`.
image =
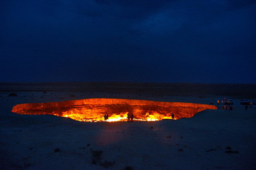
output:
[[0, 81], [256, 83], [255, 0], [2, 0]]

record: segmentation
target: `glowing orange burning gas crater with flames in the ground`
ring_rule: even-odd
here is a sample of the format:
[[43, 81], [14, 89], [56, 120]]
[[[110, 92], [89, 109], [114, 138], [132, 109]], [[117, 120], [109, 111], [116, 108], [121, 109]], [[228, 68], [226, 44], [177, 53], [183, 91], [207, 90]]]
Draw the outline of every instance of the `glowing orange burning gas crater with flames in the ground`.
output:
[[133, 113], [134, 121], [161, 121], [192, 117], [206, 109], [217, 109], [214, 105], [196, 103], [160, 102], [134, 99], [80, 99], [52, 103], [26, 103], [13, 107], [12, 112], [27, 115], [57, 115], [77, 121], [102, 122], [109, 115], [109, 122], [127, 121]]

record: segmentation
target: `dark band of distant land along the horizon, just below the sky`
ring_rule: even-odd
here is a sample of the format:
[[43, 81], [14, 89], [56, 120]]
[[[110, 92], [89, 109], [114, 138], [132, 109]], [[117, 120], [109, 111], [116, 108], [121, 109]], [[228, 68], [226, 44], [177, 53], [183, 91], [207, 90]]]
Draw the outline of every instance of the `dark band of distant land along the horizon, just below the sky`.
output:
[[[256, 84], [206, 84], [206, 83], [122, 83], [122, 82], [68, 82], [68, 83], [0, 83], [0, 92], [67, 92], [73, 94], [87, 93], [99, 94], [96, 98], [102, 98], [102, 94], [151, 94], [149, 96], [197, 96], [205, 95], [229, 96], [233, 99], [255, 99]], [[91, 96], [90, 96], [91, 95]], [[148, 97], [149, 97], [148, 96]], [[84, 97], [84, 96], [83, 96]], [[224, 97], [223, 97], [224, 98]]]

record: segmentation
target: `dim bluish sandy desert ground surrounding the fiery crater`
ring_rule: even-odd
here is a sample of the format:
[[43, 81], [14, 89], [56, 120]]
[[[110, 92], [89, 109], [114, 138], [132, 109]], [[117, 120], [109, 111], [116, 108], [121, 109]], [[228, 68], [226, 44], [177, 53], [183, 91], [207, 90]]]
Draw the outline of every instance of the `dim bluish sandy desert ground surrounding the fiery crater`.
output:
[[[245, 111], [239, 96], [233, 111], [205, 110], [190, 119], [82, 123], [10, 110], [20, 103], [84, 98], [209, 104], [235, 96], [213, 95], [212, 91], [188, 95], [189, 90], [179, 96], [127, 89], [48, 89], [44, 93], [33, 87], [15, 88], [0, 89], [0, 169], [256, 169], [256, 105]], [[17, 97], [8, 97], [10, 92]]]

